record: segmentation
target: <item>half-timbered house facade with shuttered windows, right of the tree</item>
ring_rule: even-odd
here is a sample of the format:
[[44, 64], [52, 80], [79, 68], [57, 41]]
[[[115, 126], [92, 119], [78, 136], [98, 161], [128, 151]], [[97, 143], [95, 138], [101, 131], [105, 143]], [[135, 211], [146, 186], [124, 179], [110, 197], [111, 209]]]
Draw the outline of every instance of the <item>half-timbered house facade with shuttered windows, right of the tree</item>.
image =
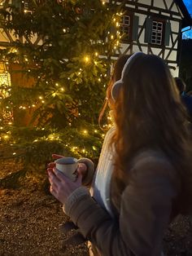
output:
[[[108, 2], [108, 1], [105, 1]], [[143, 51], [159, 55], [168, 64], [174, 77], [178, 76], [181, 29], [192, 20], [181, 0], [126, 0], [120, 22], [124, 33], [119, 54]]]

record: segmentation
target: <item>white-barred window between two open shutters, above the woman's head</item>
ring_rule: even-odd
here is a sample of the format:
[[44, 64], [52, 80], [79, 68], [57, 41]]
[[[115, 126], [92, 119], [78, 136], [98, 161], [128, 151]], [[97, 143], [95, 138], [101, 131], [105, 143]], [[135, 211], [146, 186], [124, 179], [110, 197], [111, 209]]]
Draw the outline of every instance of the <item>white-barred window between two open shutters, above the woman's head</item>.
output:
[[155, 45], [162, 45], [164, 34], [164, 23], [161, 21], [153, 20], [151, 43]]

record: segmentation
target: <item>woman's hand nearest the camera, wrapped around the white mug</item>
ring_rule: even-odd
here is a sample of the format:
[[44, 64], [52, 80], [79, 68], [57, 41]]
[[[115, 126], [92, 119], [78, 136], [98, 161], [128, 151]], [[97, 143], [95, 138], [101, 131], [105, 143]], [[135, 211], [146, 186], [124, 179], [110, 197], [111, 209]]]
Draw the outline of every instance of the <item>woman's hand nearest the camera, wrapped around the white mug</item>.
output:
[[76, 188], [81, 187], [81, 173], [78, 173], [76, 181], [73, 182], [55, 168], [50, 168], [50, 170], [47, 169], [47, 172], [50, 181], [50, 193], [62, 204], [67, 201], [68, 196], [70, 196], [71, 193], [76, 190]]

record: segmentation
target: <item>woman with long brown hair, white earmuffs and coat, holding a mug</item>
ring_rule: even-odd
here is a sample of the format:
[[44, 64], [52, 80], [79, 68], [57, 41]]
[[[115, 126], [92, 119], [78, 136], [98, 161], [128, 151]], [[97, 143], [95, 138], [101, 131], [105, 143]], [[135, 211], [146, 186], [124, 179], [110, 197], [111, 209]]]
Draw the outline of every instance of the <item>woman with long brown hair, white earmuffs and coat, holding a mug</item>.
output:
[[155, 55], [132, 55], [111, 97], [116, 129], [107, 151], [116, 154], [103, 204], [81, 186], [81, 173], [72, 183], [48, 170], [50, 192], [98, 255], [159, 256], [168, 223], [191, 210], [185, 110], [167, 65]]

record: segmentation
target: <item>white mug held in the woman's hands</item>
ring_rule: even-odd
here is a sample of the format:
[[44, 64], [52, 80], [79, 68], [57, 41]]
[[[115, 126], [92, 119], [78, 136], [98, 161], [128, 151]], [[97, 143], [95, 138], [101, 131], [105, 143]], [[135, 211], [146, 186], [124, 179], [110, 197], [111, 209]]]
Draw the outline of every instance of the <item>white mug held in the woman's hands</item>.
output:
[[55, 160], [56, 169], [63, 172], [68, 179], [76, 180], [77, 159], [74, 157], [62, 157]]

